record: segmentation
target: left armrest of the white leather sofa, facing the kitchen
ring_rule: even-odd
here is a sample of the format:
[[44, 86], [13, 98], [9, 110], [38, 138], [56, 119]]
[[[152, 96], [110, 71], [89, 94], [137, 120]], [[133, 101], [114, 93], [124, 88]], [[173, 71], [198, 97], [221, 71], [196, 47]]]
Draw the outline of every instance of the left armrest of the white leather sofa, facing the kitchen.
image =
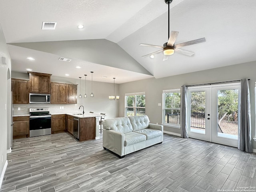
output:
[[103, 129], [103, 147], [118, 154], [124, 156], [124, 134], [114, 130]]

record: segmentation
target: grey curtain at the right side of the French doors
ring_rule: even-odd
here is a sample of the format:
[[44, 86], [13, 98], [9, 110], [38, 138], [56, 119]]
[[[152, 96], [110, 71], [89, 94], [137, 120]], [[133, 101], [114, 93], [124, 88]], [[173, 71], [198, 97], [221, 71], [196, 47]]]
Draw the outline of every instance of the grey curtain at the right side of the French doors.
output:
[[248, 79], [241, 79], [240, 129], [238, 149], [252, 152], [250, 91]]

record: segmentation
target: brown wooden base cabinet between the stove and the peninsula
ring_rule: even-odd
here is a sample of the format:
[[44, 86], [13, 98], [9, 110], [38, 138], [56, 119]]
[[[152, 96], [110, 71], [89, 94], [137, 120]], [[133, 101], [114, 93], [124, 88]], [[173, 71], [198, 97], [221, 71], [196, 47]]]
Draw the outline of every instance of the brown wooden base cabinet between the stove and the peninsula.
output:
[[52, 134], [66, 131], [66, 114], [52, 115]]

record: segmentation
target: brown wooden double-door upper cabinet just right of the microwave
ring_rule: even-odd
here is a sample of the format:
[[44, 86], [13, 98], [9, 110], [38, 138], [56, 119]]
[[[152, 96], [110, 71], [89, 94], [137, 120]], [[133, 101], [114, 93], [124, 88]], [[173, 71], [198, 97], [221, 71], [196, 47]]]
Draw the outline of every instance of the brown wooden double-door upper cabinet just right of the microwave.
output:
[[68, 103], [68, 84], [51, 82], [51, 103], [52, 104]]

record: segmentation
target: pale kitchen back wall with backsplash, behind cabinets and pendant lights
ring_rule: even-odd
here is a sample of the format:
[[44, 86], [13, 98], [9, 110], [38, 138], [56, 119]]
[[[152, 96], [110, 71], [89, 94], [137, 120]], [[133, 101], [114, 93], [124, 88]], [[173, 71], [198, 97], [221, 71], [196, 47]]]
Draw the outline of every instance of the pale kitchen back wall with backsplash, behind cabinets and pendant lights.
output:
[[[21, 78], [29, 79], [28, 74], [20, 72], [12, 72], [12, 78]], [[51, 76], [51, 82], [60, 82], [60, 83], [71, 83], [78, 84], [77, 94], [80, 94], [80, 80], [72, 78], [62, 78]], [[93, 90], [92, 90], [93, 88]], [[118, 94], [119, 85], [115, 84], [115, 92]], [[93, 111], [94, 113], [106, 113], [106, 118], [118, 117], [118, 101], [110, 101], [108, 99], [109, 95], [113, 94], [114, 84], [113, 83], [104, 83], [104, 82], [91, 82], [86, 80], [86, 94], [87, 98], [84, 98], [85, 94], [85, 78], [81, 79], [81, 95], [82, 98], [77, 98], [77, 104], [14, 104], [14, 115], [18, 114], [29, 114], [29, 108], [36, 107], [49, 107], [51, 113], [58, 112], [82, 112], [82, 108], [78, 109], [79, 106], [84, 106], [85, 112]], [[91, 98], [91, 92], [94, 93], [94, 97]], [[64, 106], [64, 109], [60, 109], [60, 106]], [[21, 108], [18, 111], [18, 107]]]

